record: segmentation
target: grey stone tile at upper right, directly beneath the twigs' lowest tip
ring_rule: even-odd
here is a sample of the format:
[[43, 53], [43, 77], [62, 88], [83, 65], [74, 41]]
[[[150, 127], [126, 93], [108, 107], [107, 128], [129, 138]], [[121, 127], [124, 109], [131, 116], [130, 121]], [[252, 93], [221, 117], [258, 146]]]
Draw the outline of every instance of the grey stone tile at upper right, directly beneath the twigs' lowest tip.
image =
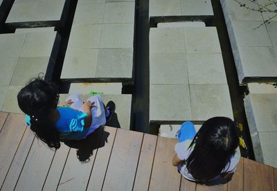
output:
[[233, 31], [238, 46], [272, 46], [267, 29], [260, 21], [233, 21]]

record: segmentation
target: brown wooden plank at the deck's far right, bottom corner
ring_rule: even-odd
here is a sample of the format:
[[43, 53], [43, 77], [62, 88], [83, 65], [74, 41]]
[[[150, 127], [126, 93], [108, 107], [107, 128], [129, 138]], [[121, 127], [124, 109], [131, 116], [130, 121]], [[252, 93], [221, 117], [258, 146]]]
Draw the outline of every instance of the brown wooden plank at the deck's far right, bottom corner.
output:
[[274, 168], [244, 158], [244, 190], [274, 190]]

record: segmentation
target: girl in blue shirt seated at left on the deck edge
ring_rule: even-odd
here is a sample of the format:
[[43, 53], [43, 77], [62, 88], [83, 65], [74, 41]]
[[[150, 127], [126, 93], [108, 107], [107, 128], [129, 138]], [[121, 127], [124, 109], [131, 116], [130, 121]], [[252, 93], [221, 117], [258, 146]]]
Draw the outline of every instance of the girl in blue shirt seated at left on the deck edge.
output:
[[[91, 111], [96, 108], [95, 102], [83, 102], [82, 111], [78, 111], [57, 107], [59, 97], [55, 84], [41, 78], [26, 84], [17, 95], [19, 107], [26, 113], [27, 125], [48, 147], [58, 149], [60, 141], [86, 138], [100, 125], [105, 125], [105, 119], [98, 125], [93, 124]], [[100, 96], [95, 100], [102, 104]]]

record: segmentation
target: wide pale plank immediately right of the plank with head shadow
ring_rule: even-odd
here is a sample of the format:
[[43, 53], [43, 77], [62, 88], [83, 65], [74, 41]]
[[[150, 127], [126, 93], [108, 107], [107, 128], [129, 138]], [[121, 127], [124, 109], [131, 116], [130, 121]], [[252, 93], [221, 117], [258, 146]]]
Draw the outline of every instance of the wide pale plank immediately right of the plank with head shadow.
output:
[[118, 129], [102, 190], [132, 190], [143, 134]]

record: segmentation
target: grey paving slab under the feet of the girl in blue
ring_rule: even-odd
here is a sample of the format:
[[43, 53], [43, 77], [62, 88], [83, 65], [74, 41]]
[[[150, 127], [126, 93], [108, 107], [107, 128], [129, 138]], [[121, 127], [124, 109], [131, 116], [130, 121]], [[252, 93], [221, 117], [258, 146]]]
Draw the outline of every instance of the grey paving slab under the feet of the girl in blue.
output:
[[[60, 94], [60, 104], [62, 105], [69, 94]], [[91, 95], [81, 95], [82, 100], [87, 100]], [[116, 114], [118, 116], [118, 122], [120, 127], [123, 129], [129, 129], [130, 117], [131, 117], [131, 104], [132, 95], [121, 94], [121, 95], [101, 95], [104, 104], [107, 104], [109, 100], [112, 100], [116, 104]]]

